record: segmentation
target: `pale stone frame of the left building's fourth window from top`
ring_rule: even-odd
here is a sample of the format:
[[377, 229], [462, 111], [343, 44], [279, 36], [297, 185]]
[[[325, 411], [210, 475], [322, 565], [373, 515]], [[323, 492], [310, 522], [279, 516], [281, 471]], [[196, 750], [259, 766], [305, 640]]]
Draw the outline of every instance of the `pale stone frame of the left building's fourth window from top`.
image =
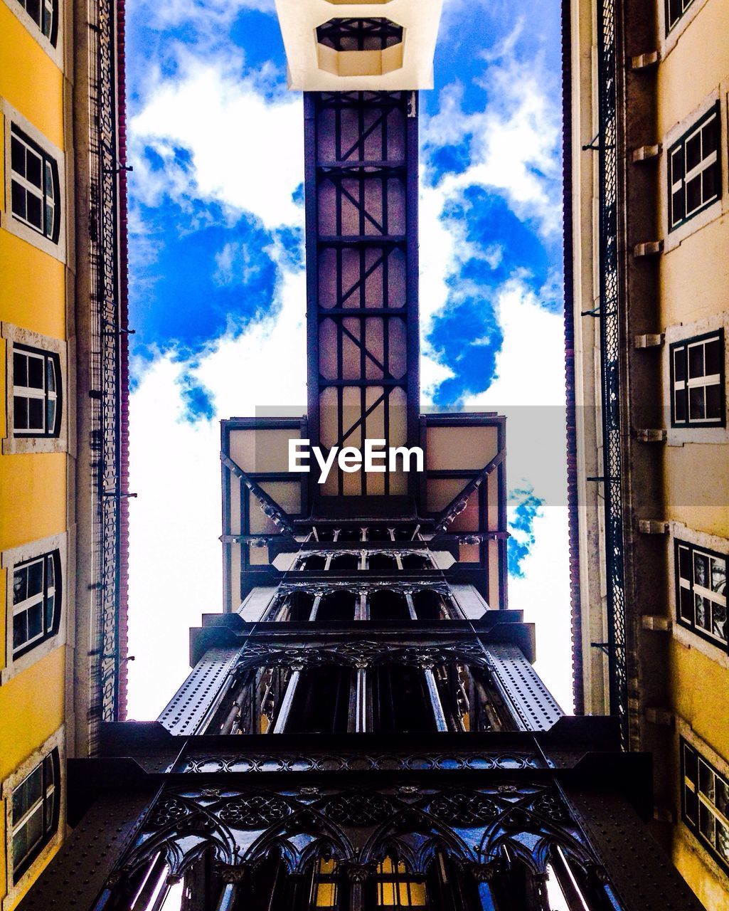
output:
[[[73, 544], [73, 542], [71, 542]], [[71, 605], [73, 602], [73, 585], [74, 578], [71, 573], [73, 566], [68, 558], [69, 542], [67, 533], [53, 535], [51, 537], [40, 538], [29, 544], [24, 544], [18, 548], [4, 550], [0, 554], [0, 567], [7, 570], [5, 584], [5, 667], [0, 670], [0, 686], [12, 680], [16, 674], [35, 664], [50, 654], [50, 652], [65, 645], [68, 637], [68, 630], [72, 629], [72, 619], [70, 617]], [[14, 605], [14, 581], [15, 567], [20, 567], [31, 560], [45, 557], [46, 555], [58, 553], [56, 566], [56, 631], [39, 639], [33, 648], [17, 650], [13, 642], [13, 618], [15, 616]], [[60, 595], [60, 598], [59, 598]]]

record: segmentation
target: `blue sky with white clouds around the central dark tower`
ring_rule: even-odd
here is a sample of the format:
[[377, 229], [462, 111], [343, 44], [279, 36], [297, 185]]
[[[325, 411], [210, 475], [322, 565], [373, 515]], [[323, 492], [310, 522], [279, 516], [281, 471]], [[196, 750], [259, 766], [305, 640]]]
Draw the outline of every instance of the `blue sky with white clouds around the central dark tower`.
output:
[[[507, 415], [510, 606], [571, 711], [559, 6], [444, 0], [420, 93], [420, 373], [424, 405]], [[128, 717], [150, 719], [221, 609], [219, 421], [306, 402], [303, 116], [273, 0], [127, 0], [127, 92]]]

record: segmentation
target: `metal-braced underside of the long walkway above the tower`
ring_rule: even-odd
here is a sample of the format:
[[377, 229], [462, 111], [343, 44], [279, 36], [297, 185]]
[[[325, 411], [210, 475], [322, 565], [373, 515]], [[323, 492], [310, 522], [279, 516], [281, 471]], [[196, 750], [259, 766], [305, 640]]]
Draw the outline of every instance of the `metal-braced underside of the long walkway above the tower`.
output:
[[[417, 94], [306, 96], [309, 430], [329, 448], [417, 441]], [[312, 476], [313, 477], [313, 476]], [[325, 495], [393, 489], [332, 470]]]

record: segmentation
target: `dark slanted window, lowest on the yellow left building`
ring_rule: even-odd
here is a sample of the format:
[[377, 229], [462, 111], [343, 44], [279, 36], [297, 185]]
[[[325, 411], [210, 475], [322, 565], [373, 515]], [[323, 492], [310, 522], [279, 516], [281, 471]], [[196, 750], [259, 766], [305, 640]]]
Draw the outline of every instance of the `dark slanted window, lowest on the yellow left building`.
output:
[[58, 826], [58, 751], [13, 789], [13, 878], [15, 883], [56, 833]]

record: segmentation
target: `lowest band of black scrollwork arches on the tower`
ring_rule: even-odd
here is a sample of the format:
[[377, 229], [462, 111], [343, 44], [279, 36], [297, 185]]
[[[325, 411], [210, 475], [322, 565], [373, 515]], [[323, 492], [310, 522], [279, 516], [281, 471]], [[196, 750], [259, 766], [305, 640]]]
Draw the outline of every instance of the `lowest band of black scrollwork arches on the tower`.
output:
[[392, 844], [409, 858], [413, 872], [425, 875], [435, 853], [445, 852], [480, 881], [497, 869], [505, 848], [535, 874], [544, 871], [554, 844], [577, 857], [583, 869], [597, 864], [569, 806], [550, 784], [507, 779], [463, 789], [406, 780], [354, 791], [177, 788], [153, 808], [120, 869], [134, 871], [162, 852], [170, 875], [181, 875], [211, 851], [217, 865], [228, 865], [226, 881], [234, 882], [271, 852], [295, 875], [319, 852], [351, 865], [352, 875], [366, 875]]

